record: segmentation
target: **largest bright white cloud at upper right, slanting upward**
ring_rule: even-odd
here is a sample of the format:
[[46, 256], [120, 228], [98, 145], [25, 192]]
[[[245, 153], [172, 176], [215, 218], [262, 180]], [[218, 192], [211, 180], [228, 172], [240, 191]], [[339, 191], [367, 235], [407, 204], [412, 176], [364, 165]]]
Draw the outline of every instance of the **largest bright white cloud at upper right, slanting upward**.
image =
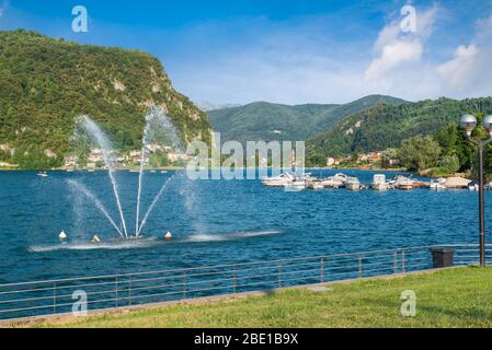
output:
[[403, 33], [401, 19], [386, 25], [374, 45], [377, 57], [373, 59], [365, 72], [369, 81], [385, 78], [387, 73], [409, 62], [416, 62], [424, 52], [424, 43], [431, 35], [437, 7], [416, 12], [416, 31]]

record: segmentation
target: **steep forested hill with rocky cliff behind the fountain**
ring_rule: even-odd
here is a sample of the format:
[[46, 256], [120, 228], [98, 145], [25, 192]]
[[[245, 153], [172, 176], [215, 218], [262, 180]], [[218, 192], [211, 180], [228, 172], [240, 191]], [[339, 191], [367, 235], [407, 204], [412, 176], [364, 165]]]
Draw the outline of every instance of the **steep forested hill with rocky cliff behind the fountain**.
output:
[[205, 113], [174, 91], [157, 58], [23, 30], [0, 32], [0, 162], [60, 165], [81, 114], [113, 135], [116, 147], [138, 149], [153, 104], [183, 138], [209, 141]]

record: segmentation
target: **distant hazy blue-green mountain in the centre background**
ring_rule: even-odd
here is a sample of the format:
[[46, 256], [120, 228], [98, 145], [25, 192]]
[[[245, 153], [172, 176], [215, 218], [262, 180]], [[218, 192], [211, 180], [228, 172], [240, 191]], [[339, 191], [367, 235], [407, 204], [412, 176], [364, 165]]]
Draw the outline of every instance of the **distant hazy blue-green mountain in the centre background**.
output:
[[222, 140], [306, 140], [323, 132], [343, 117], [375, 105], [400, 105], [390, 96], [367, 96], [345, 105], [306, 104], [288, 106], [255, 102], [245, 106], [208, 112], [208, 118]]

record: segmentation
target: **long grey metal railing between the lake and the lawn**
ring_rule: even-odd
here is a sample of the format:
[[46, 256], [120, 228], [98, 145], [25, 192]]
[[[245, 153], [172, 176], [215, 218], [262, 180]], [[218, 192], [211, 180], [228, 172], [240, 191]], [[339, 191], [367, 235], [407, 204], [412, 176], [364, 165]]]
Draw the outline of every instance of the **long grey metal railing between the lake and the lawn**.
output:
[[[479, 262], [478, 245], [446, 246], [455, 248], [455, 266]], [[68, 313], [81, 295], [95, 311], [423, 271], [433, 268], [431, 247], [0, 284], [0, 319]]]

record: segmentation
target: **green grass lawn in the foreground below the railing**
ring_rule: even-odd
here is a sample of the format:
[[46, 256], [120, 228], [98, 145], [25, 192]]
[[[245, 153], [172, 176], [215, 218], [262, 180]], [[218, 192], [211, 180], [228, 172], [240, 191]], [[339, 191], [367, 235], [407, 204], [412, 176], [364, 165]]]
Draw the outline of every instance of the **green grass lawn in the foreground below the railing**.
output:
[[[64, 317], [28, 327], [492, 327], [492, 268], [457, 268], [335, 283], [333, 290], [282, 290], [262, 296], [191, 302]], [[416, 294], [415, 317], [400, 295]]]

